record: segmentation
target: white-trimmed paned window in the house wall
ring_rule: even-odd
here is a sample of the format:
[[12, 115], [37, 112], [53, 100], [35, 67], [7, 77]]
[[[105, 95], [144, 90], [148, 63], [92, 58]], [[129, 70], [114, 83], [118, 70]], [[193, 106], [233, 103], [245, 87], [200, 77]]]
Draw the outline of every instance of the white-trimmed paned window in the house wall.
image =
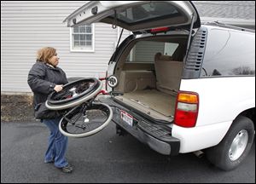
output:
[[94, 25], [74, 26], [71, 28], [71, 51], [94, 51]]

